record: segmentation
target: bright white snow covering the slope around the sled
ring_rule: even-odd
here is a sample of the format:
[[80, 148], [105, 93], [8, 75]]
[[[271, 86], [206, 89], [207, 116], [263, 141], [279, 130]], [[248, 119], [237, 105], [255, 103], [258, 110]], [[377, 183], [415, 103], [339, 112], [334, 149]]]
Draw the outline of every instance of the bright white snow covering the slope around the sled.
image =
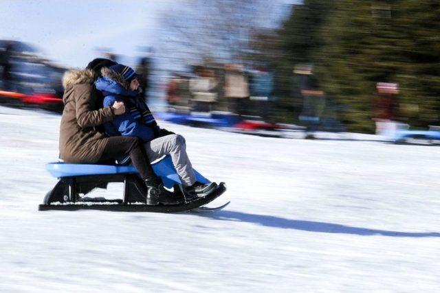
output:
[[[206, 214], [37, 211], [60, 116], [0, 107], [0, 292], [436, 292], [437, 147], [167, 124], [228, 191]], [[348, 138], [348, 139], [347, 139]], [[120, 186], [98, 193], [120, 197]]]

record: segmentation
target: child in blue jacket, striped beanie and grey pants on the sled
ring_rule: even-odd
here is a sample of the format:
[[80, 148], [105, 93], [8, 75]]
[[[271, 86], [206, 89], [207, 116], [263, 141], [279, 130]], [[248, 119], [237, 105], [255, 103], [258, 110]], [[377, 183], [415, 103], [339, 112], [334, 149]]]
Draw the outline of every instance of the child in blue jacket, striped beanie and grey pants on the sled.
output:
[[[217, 187], [216, 183], [203, 184], [196, 180], [192, 165], [186, 154], [184, 137], [164, 128], [159, 128], [144, 99], [140, 97], [140, 82], [137, 73], [126, 65], [113, 65], [101, 71], [96, 80], [96, 89], [104, 95], [104, 108], [122, 102], [127, 110], [104, 124], [107, 134], [112, 137], [138, 137], [144, 143], [150, 161], [156, 161], [170, 154], [173, 165], [184, 185], [186, 198], [205, 196]], [[146, 182], [147, 185], [159, 185]]]

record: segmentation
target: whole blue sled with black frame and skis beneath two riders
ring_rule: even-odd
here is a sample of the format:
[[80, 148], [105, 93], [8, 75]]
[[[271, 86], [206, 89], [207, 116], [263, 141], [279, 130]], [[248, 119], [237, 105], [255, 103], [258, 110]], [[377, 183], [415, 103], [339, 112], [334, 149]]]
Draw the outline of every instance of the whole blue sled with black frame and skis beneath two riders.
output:
[[[142, 180], [137, 175], [135, 167], [131, 165], [92, 165], [92, 164], [67, 164], [49, 163], [47, 171], [52, 176], [59, 178], [55, 187], [49, 191], [43, 204], [39, 205], [40, 211], [50, 209], [76, 211], [78, 209], [98, 209], [104, 211], [148, 211], [157, 213], [175, 213], [190, 211], [212, 202], [226, 191], [224, 183], [207, 196], [186, 201], [181, 192], [181, 181], [170, 156], [153, 164], [153, 170], [162, 178], [164, 186], [174, 189], [181, 204], [173, 205], [148, 205], [145, 203], [145, 188]], [[197, 181], [210, 183], [194, 170]], [[124, 183], [123, 198], [107, 200], [105, 198], [88, 198], [86, 195], [95, 188], [107, 188], [108, 183]], [[82, 195], [82, 196], [80, 196]], [[225, 207], [225, 205], [224, 205]], [[223, 206], [218, 207], [223, 208]], [[212, 209], [212, 208], [210, 208]], [[216, 209], [216, 208], [213, 208]], [[203, 211], [203, 209], [201, 209]]]

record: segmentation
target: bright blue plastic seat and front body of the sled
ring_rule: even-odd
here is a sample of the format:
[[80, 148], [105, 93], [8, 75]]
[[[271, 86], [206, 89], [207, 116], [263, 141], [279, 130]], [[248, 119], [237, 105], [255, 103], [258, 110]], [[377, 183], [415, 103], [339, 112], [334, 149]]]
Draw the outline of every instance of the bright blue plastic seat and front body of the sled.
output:
[[[164, 159], [157, 161], [152, 165], [153, 171], [162, 178], [166, 187], [173, 187], [175, 184], [181, 184], [179, 175], [171, 161], [171, 157], [165, 156]], [[109, 174], [137, 174], [133, 165], [96, 165], [96, 164], [72, 164], [72, 163], [48, 163], [47, 171], [56, 178], [76, 177], [76, 176], [94, 176]], [[195, 169], [194, 173], [197, 181], [201, 183], [210, 183], [210, 180], [203, 177]]]

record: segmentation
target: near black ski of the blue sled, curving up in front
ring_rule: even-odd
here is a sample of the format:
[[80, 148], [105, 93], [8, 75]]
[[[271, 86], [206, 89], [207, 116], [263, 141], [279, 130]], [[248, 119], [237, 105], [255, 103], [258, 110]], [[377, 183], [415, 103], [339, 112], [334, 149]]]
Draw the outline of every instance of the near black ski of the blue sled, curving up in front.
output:
[[192, 200], [184, 204], [172, 204], [172, 205], [148, 205], [148, 204], [120, 204], [118, 202], [75, 202], [75, 203], [63, 203], [63, 204], [40, 204], [39, 211], [58, 210], [58, 211], [78, 211], [80, 209], [94, 209], [100, 211], [144, 211], [152, 213], [178, 213], [182, 211], [191, 211], [202, 207], [212, 200], [218, 198], [226, 191], [224, 183], [220, 183], [219, 187], [197, 200]]

